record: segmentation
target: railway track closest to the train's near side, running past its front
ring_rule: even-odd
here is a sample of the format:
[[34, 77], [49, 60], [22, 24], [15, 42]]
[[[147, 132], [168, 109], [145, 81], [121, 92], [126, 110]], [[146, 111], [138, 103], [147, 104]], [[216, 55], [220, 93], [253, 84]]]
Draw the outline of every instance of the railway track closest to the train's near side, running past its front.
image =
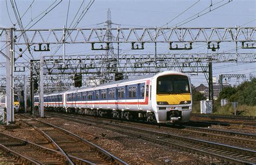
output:
[[[55, 113], [59, 114], [59, 113]], [[74, 117], [83, 119], [83, 115], [79, 114], [69, 114], [69, 115], [75, 115]], [[131, 122], [131, 121], [124, 121], [124, 120], [112, 120], [112, 119], [106, 119], [106, 118], [97, 118], [97, 117], [90, 117], [86, 116], [86, 118], [91, 118], [93, 120], [98, 119], [101, 121], [108, 121], [119, 124], [129, 124], [134, 125], [136, 127], [146, 127], [146, 128], [153, 128], [157, 131], [168, 131], [174, 134], [184, 134], [184, 135], [192, 135], [192, 136], [198, 136], [198, 137], [205, 137], [210, 138], [215, 141], [232, 141], [232, 143], [236, 144], [238, 147], [245, 148], [246, 146], [248, 149], [256, 149], [256, 134], [252, 133], [240, 133], [240, 132], [233, 132], [233, 131], [223, 131], [223, 130], [215, 130], [212, 128], [201, 128], [201, 127], [193, 127], [193, 126], [186, 126], [186, 125], [172, 125], [172, 124], [165, 124], [165, 125], [150, 125], [150, 124], [144, 124], [144, 123], [138, 123], [138, 122]]]

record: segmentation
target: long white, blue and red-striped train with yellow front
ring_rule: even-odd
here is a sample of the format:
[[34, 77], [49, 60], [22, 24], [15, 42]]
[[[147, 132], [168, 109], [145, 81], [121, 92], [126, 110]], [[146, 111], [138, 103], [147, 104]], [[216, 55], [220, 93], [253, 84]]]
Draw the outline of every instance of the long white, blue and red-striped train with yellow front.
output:
[[[44, 95], [44, 107], [93, 116], [183, 123], [190, 120], [191, 93], [190, 78], [186, 74], [164, 71]], [[35, 106], [38, 104], [39, 96], [35, 96]]]

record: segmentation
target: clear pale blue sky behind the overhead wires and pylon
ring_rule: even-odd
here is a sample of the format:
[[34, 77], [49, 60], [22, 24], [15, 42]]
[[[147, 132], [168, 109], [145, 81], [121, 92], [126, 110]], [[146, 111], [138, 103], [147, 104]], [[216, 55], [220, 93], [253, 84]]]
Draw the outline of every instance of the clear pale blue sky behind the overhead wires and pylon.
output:
[[[6, 8], [6, 2], [8, 8]], [[28, 23], [30, 23], [30, 25], [35, 23], [37, 19], [34, 18], [39, 13], [44, 11], [48, 6], [50, 6], [50, 4], [53, 2], [55, 1], [35, 1], [34, 3], [29, 0], [16, 1], [21, 15], [23, 15], [23, 13], [28, 9], [22, 18], [23, 25], [26, 26]], [[88, 3], [89, 1], [85, 2]], [[108, 9], [111, 10], [112, 22], [120, 24], [120, 27], [161, 27], [163, 25], [165, 25], [165, 27], [174, 27], [176, 25], [180, 25], [179, 23], [186, 18], [196, 15], [198, 12], [208, 8], [211, 3], [213, 4], [211, 9], [214, 9], [215, 6], [219, 6], [220, 4], [224, 4], [226, 2], [228, 2], [228, 0], [201, 0], [199, 2], [198, 0], [96, 0], [77, 27], [103, 27], [103, 25], [99, 23], [106, 21], [106, 13]], [[32, 5], [29, 7], [31, 3]], [[67, 21], [66, 18], [68, 4], [68, 0], [63, 0], [63, 2], [61, 2], [55, 9], [50, 11], [42, 20], [38, 21], [38, 23], [32, 28], [62, 28]], [[80, 7], [80, 4], [82, 4], [82, 1], [70, 1], [69, 17], [67, 21], [68, 26], [71, 24], [73, 17], [76, 15], [76, 11]], [[82, 5], [82, 8], [86, 8], [86, 5]], [[186, 9], [188, 10], [184, 12]], [[8, 16], [8, 11], [10, 18]], [[182, 14], [180, 15], [180, 13]], [[178, 15], [180, 16], [177, 17]], [[170, 20], [172, 21], [169, 22]], [[16, 22], [11, 3], [9, 1], [0, 0], [0, 27], [11, 27], [11, 21], [14, 23]], [[211, 11], [204, 16], [190, 21], [189, 23], [181, 25], [181, 27], [235, 27], [236, 25], [244, 27], [255, 27], [256, 1], [233, 0], [230, 3], [221, 6], [219, 9]], [[117, 25], [113, 25], [113, 27], [116, 26]], [[16, 26], [16, 28], [18, 28], [18, 26]], [[3, 41], [2, 38], [1, 41]], [[233, 51], [231, 52], [234, 53], [234, 47], [226, 44], [226, 49], [232, 48]], [[166, 52], [167, 50], [163, 46], [159, 45], [158, 51], [161, 53]], [[193, 51], [206, 53], [207, 49], [198, 48]], [[76, 52], [76, 46], [67, 46], [67, 53], [75, 54]], [[239, 52], [243, 53], [245, 51], [239, 49]], [[250, 51], [246, 51], [245, 53], [247, 52], [255, 53], [255, 49], [250, 49]], [[143, 52], [138, 53], [153, 53], [153, 48], [149, 46], [144, 49]], [[61, 54], [61, 52], [59, 52], [59, 54]], [[92, 52], [90, 49], [88, 49], [84, 50], [84, 54], [92, 54]], [[5, 61], [3, 56], [0, 57], [0, 61]], [[0, 74], [4, 73], [4, 69], [1, 69]], [[218, 77], [219, 74], [246, 74], [247, 77], [249, 74], [252, 74], [256, 76], [256, 65], [255, 63], [238, 63], [238, 65], [235, 63], [214, 63], [213, 76]], [[198, 76], [191, 76], [191, 79], [192, 83], [195, 85], [199, 85], [200, 83], [206, 84], [206, 80], [203, 74], [199, 74]], [[238, 82], [236, 78], [233, 78], [231, 79], [230, 83], [237, 84]]]

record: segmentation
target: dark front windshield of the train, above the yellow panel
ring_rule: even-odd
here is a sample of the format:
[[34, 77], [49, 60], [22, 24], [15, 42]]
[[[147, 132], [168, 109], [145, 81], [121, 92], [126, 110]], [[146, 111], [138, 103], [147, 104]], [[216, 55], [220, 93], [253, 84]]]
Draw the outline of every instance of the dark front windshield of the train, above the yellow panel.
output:
[[164, 75], [157, 78], [157, 95], [188, 94], [190, 83], [184, 75]]

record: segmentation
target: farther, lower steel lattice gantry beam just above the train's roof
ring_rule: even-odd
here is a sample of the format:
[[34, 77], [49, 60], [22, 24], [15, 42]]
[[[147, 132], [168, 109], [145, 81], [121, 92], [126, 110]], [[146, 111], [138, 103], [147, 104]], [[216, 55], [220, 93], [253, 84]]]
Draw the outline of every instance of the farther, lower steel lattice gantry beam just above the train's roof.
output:
[[[237, 58], [239, 57], [239, 58]], [[180, 70], [187, 73], [205, 72], [211, 62], [256, 62], [255, 53], [216, 54], [123, 54], [109, 58], [107, 55], [44, 56], [45, 74], [102, 74], [116, 73], [116, 68], [127, 75], [157, 73], [163, 70]], [[118, 61], [118, 62], [117, 62]]]

